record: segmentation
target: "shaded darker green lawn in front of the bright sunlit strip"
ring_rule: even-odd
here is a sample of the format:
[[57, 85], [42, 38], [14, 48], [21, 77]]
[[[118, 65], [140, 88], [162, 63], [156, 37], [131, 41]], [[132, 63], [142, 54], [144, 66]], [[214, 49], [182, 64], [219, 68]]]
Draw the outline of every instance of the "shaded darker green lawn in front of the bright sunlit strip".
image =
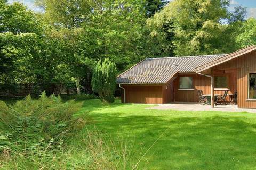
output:
[[256, 166], [256, 124], [243, 116], [166, 118], [98, 114], [94, 118], [97, 128], [113, 137], [125, 138], [135, 147], [143, 145], [144, 152], [168, 129], [142, 159], [141, 167], [253, 169]]

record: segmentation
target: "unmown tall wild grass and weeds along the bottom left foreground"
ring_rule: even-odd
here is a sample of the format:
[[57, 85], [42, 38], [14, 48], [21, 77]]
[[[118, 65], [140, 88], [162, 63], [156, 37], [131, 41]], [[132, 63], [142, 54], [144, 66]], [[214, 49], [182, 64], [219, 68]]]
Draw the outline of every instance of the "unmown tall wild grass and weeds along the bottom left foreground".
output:
[[27, 148], [27, 154], [6, 148], [0, 156], [0, 169], [137, 169], [131, 164], [131, 143], [99, 131], [87, 131], [84, 137], [79, 147], [51, 139]]

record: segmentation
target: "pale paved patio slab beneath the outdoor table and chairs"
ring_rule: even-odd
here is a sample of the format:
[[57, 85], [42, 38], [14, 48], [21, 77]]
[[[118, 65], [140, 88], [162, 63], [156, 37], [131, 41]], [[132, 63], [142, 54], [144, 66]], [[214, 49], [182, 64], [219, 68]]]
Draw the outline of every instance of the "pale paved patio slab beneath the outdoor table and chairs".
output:
[[147, 109], [158, 110], [176, 110], [176, 111], [223, 111], [223, 112], [250, 112], [256, 113], [256, 109], [238, 108], [237, 105], [217, 105], [211, 108], [210, 105], [202, 105], [198, 103], [169, 103], [159, 104], [158, 106], [149, 107]]

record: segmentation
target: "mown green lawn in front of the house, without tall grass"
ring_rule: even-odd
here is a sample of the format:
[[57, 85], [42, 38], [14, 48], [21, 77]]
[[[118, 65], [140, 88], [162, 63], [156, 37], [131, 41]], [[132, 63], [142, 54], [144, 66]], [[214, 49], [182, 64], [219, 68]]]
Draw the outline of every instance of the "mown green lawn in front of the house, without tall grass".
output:
[[[149, 105], [104, 105], [84, 101], [78, 114], [91, 120], [77, 135], [97, 128], [111, 139], [132, 144], [131, 164], [154, 143], [138, 169], [255, 169], [256, 114], [230, 112], [158, 111]], [[75, 139], [74, 139], [75, 140]], [[79, 155], [79, 154], [78, 154]]]

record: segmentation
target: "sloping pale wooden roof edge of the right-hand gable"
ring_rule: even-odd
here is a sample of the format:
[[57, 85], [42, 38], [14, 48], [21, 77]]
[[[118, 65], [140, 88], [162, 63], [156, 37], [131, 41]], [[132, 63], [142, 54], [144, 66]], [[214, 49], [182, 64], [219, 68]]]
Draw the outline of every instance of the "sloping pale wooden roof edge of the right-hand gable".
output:
[[218, 58], [217, 60], [214, 60], [214, 61], [209, 62], [207, 64], [201, 65], [201, 66], [197, 67], [194, 71], [197, 72], [197, 73], [202, 72], [206, 69], [210, 69], [211, 67], [217, 66], [221, 63], [225, 63], [227, 61], [233, 60], [234, 58], [237, 58], [237, 57], [242, 56], [244, 54], [250, 53], [254, 50], [256, 50], [255, 45], [251, 45], [251, 46], [239, 49], [236, 52], [233, 52], [233, 53], [230, 53], [230, 54], [226, 55], [225, 57], [221, 57], [221, 58]]

